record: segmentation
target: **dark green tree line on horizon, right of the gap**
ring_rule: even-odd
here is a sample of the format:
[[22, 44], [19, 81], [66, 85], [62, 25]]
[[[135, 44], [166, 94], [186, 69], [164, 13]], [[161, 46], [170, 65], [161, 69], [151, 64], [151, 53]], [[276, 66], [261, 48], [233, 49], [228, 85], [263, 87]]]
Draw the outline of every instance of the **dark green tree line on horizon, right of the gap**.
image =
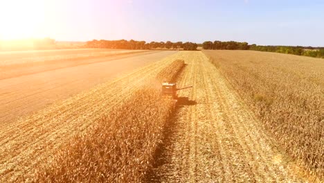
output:
[[214, 50], [254, 50], [254, 51], [268, 51], [276, 53], [287, 53], [293, 55], [304, 55], [314, 58], [324, 58], [323, 47], [312, 46], [260, 46], [256, 44], [248, 44], [247, 42], [210, 42], [206, 41], [202, 44], [203, 49]]

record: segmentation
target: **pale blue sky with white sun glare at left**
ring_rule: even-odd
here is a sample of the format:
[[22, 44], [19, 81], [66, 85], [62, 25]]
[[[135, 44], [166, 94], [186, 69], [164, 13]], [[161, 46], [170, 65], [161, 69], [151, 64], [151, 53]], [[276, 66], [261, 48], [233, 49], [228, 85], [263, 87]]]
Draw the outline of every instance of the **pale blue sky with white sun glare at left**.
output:
[[28, 37], [324, 46], [324, 1], [0, 0], [0, 40]]

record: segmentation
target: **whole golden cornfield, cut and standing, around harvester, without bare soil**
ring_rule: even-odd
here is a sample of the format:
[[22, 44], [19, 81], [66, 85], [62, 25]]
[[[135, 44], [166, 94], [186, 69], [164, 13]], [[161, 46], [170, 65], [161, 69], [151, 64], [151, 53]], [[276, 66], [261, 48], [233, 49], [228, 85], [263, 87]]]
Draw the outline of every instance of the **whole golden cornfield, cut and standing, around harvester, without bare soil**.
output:
[[321, 182], [323, 71], [179, 51], [2, 128], [0, 182]]

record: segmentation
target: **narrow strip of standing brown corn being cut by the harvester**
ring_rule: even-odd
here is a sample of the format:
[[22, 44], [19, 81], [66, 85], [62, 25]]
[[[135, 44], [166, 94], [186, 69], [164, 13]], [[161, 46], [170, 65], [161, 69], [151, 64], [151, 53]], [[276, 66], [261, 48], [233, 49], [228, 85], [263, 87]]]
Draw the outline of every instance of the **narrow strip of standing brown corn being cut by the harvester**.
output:
[[[172, 62], [156, 79], [174, 79], [183, 65], [183, 60]], [[163, 139], [173, 105], [158, 89], [139, 89], [62, 147], [54, 162], [35, 171], [33, 181], [141, 182]]]

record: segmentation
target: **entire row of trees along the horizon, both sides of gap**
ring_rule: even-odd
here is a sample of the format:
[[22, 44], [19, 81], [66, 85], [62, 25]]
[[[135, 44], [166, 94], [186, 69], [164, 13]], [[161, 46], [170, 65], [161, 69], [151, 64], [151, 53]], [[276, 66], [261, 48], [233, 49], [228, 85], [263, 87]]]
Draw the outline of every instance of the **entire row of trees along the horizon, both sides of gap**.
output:
[[145, 42], [136, 40], [92, 40], [85, 44], [87, 48], [96, 49], [172, 49], [172, 50], [197, 50], [201, 46], [202, 49], [213, 50], [253, 50], [268, 51], [276, 53], [287, 53], [293, 55], [304, 55], [314, 58], [324, 58], [323, 47], [312, 46], [262, 46], [249, 44], [247, 42], [221, 42], [206, 41], [202, 44], [193, 42]]

